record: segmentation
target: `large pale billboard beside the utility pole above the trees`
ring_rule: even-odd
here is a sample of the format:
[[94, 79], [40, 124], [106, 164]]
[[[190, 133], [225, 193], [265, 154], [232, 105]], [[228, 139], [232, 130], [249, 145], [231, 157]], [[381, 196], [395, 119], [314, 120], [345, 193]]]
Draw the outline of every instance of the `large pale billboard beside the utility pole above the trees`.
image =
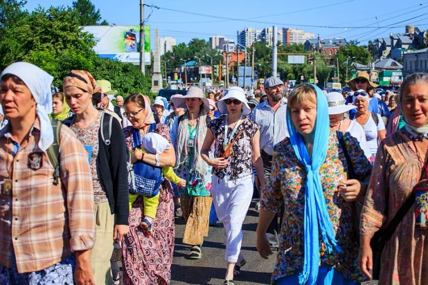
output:
[[[97, 40], [93, 50], [103, 58], [140, 63], [140, 26], [84, 26]], [[150, 26], [144, 26], [144, 62], [150, 59]]]

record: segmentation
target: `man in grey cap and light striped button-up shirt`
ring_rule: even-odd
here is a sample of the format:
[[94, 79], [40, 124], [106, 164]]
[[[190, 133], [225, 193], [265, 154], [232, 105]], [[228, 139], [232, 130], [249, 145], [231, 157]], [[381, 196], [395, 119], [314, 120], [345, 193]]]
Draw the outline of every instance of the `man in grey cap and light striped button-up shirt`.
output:
[[[263, 87], [267, 94], [267, 100], [253, 109], [250, 119], [260, 126], [260, 153], [265, 170], [265, 181], [268, 181], [271, 175], [274, 145], [289, 136], [289, 134], [287, 130], [287, 100], [284, 98], [284, 82], [277, 77], [269, 77], [265, 80]], [[282, 216], [282, 214], [279, 215], [280, 223], [282, 223]], [[278, 218], [278, 214], [276, 217]], [[272, 250], [278, 249], [279, 231], [278, 219], [273, 219], [269, 228], [267, 228], [266, 234]]]

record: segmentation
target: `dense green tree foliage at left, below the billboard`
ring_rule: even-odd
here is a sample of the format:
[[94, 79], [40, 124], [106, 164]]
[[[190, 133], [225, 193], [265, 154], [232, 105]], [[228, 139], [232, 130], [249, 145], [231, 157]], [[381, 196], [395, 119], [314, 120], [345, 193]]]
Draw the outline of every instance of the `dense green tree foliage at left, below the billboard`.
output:
[[151, 79], [142, 75], [139, 66], [96, 55], [92, 49], [96, 41], [80, 28], [75, 8], [39, 7], [31, 13], [20, 12], [19, 3], [15, 10], [2, 8], [0, 4], [0, 19], [8, 19], [3, 21], [8, 28], [0, 35], [1, 70], [13, 62], [30, 62], [53, 75], [55, 86], [62, 86], [71, 70], [87, 70], [96, 80], [112, 82], [121, 95], [150, 95]]

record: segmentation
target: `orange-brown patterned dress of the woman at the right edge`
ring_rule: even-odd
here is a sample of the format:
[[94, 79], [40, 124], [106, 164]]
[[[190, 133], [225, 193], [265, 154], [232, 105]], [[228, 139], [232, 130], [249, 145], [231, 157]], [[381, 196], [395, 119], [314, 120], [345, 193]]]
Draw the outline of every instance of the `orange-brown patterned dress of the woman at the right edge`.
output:
[[[373, 237], [391, 222], [418, 183], [426, 153], [402, 130], [382, 141], [362, 210], [362, 235]], [[428, 230], [415, 227], [415, 208], [385, 245], [379, 284], [428, 284]]]

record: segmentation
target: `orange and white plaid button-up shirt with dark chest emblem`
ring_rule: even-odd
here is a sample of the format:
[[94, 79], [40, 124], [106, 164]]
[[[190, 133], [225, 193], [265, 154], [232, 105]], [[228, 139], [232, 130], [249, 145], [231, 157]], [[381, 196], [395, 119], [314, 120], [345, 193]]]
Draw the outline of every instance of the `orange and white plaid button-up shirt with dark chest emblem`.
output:
[[[65, 126], [61, 129], [61, 178], [53, 185], [51, 161], [46, 151], [37, 147], [39, 120], [22, 145], [12, 139], [8, 129], [0, 131], [0, 264], [12, 267], [15, 250], [18, 272], [34, 272], [60, 262], [75, 250], [92, 248], [92, 177], [87, 151], [73, 131]], [[12, 193], [5, 194], [3, 183], [10, 169]]]

